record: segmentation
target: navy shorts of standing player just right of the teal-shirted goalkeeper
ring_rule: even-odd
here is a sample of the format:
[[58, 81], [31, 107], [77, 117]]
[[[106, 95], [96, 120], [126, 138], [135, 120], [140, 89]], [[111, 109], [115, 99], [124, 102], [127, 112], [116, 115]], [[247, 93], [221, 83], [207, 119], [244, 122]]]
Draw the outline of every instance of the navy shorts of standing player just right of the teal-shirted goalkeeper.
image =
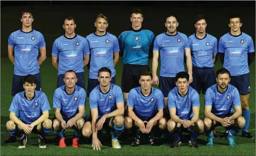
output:
[[159, 79], [159, 88], [164, 94], [164, 97], [168, 97], [169, 92], [171, 89], [176, 87], [176, 80], [175, 77], [161, 77]]

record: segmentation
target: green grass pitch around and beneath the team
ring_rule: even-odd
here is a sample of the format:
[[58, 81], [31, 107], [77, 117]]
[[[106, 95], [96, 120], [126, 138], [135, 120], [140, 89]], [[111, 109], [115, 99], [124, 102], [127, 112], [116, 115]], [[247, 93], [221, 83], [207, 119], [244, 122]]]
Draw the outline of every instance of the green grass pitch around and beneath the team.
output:
[[[150, 60], [151, 68], [152, 59]], [[215, 70], [222, 67], [219, 62], [215, 65]], [[159, 66], [160, 68], [160, 66]], [[119, 59], [117, 64], [117, 75], [116, 83], [120, 86], [123, 63], [122, 58]], [[158, 70], [159, 72], [159, 70]], [[53, 103], [53, 93], [57, 85], [57, 70], [52, 65], [52, 59], [47, 58], [40, 69], [42, 79], [42, 89], [45, 92], [50, 106]], [[86, 78], [88, 77], [88, 70], [85, 68]], [[100, 151], [92, 150], [91, 144], [82, 144], [80, 148], [73, 148], [72, 143], [69, 143], [67, 148], [59, 148], [57, 144], [46, 144], [46, 149], [40, 149], [38, 147], [38, 140], [35, 134], [28, 136], [28, 141], [25, 149], [18, 149], [18, 142], [12, 144], [3, 144], [3, 141], [8, 136], [6, 129], [6, 122], [9, 120], [8, 111], [12, 97], [12, 75], [13, 75], [13, 64], [8, 58], [1, 58], [1, 155], [255, 155], [255, 139], [245, 139], [241, 137], [239, 133], [235, 137], [236, 148], [231, 148], [225, 139], [215, 138], [215, 145], [212, 147], [205, 146], [207, 137], [203, 134], [199, 136], [198, 143], [199, 148], [193, 149], [189, 146], [181, 146], [178, 149], [171, 149], [169, 144], [162, 144], [160, 146], [141, 145], [136, 148], [132, 148], [131, 145], [122, 145], [121, 149], [113, 149], [110, 144], [104, 144]], [[86, 79], [87, 83], [87, 79]], [[87, 84], [86, 84], [87, 86]], [[250, 65], [250, 127], [249, 131], [255, 136], [255, 62]], [[200, 95], [200, 117], [203, 117], [204, 100], [203, 95]], [[86, 112], [89, 113], [88, 98], [86, 102]], [[50, 110], [50, 119], [54, 114], [53, 109]], [[223, 127], [217, 127], [217, 133], [223, 133]], [[72, 136], [72, 130], [67, 130], [67, 135]], [[48, 136], [48, 139], [54, 138], [53, 131]], [[70, 140], [71, 141], [71, 140]]]

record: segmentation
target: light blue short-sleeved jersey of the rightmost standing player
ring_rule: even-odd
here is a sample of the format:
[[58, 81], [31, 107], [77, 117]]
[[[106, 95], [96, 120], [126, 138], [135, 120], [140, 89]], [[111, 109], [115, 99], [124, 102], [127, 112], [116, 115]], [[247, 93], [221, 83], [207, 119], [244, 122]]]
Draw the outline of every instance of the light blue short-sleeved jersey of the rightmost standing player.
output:
[[233, 36], [228, 32], [218, 42], [218, 52], [225, 53], [224, 68], [229, 70], [231, 75], [243, 75], [249, 73], [248, 53], [253, 53], [253, 39], [241, 32]]

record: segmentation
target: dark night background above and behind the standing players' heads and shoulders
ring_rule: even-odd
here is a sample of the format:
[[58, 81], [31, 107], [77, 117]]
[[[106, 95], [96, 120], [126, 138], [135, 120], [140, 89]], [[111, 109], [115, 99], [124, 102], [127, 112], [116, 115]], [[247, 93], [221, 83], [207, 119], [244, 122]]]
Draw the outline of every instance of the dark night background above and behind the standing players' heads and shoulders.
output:
[[119, 36], [131, 26], [130, 14], [140, 8], [144, 14], [143, 27], [157, 36], [166, 31], [166, 16], [177, 16], [178, 31], [192, 35], [196, 31], [194, 18], [198, 14], [207, 17], [207, 33], [217, 39], [230, 31], [229, 16], [239, 14], [243, 22], [241, 30], [252, 36], [255, 45], [255, 1], [1, 1], [1, 56], [8, 56], [8, 36], [21, 29], [21, 11], [34, 13], [32, 28], [45, 38], [47, 56], [51, 56], [55, 39], [64, 34], [64, 17], [76, 18], [76, 33], [86, 37], [95, 31], [94, 21], [98, 13], [108, 17], [108, 32]]

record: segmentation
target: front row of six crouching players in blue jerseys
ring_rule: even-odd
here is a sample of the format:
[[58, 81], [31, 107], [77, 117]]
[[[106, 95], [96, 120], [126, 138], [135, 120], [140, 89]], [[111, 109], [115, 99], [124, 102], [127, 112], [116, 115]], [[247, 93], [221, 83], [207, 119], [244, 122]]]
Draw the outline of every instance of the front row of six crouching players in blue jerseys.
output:
[[[82, 135], [92, 137], [92, 146], [100, 150], [101, 141], [99, 134], [102, 129], [112, 130], [113, 148], [121, 148], [118, 136], [122, 130], [131, 130], [133, 135], [132, 146], [141, 143], [142, 136], [146, 136], [151, 145], [155, 144], [156, 128], [160, 132], [167, 132], [173, 139], [171, 147], [181, 145], [184, 130], [190, 131], [188, 144], [197, 148], [196, 138], [203, 131], [208, 135], [207, 146], [213, 145], [214, 135], [212, 130], [216, 126], [228, 127], [227, 141], [230, 146], [236, 146], [234, 136], [239, 133], [245, 119], [242, 114], [238, 89], [230, 85], [230, 72], [221, 68], [216, 72], [216, 82], [206, 91], [205, 110], [203, 121], [199, 119], [199, 94], [189, 86], [189, 74], [179, 72], [175, 76], [176, 87], [168, 94], [169, 114], [164, 114], [165, 102], [162, 92], [154, 87], [151, 73], [142, 73], [139, 77], [140, 87], [131, 89], [128, 96], [128, 114], [124, 115], [124, 98], [122, 89], [111, 82], [111, 70], [103, 67], [98, 71], [100, 84], [92, 89], [89, 98], [90, 117], [86, 121], [85, 89], [76, 86], [77, 76], [73, 70], [64, 74], [64, 85], [57, 88], [53, 96], [55, 114], [53, 122], [49, 120], [50, 105], [48, 98], [42, 91], [36, 91], [36, 78], [34, 75], [24, 77], [25, 91], [17, 93], [10, 106], [10, 121], [7, 129], [13, 136], [20, 138], [20, 146], [25, 148], [26, 134], [38, 134], [40, 148], [46, 148], [45, 137], [53, 126], [54, 134], [60, 137], [59, 147], [65, 148], [66, 137], [64, 130], [69, 127], [74, 129], [72, 146], [80, 146], [78, 140]], [[233, 110], [235, 108], [235, 111]], [[137, 127], [142, 135], [138, 133]], [[166, 129], [167, 128], [167, 129]], [[167, 136], [168, 137], [168, 136]]]

